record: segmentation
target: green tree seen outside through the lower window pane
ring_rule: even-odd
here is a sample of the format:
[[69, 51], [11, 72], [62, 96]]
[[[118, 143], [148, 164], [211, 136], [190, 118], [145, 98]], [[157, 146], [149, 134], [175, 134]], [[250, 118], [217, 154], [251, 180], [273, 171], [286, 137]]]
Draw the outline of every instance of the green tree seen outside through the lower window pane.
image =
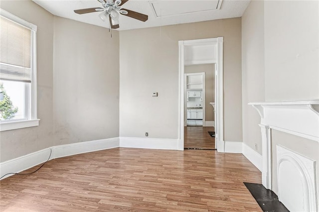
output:
[[3, 84], [0, 83], [0, 92], [3, 94], [3, 100], [0, 100], [0, 120], [11, 119], [18, 111], [17, 107], [14, 107], [10, 97], [6, 94]]

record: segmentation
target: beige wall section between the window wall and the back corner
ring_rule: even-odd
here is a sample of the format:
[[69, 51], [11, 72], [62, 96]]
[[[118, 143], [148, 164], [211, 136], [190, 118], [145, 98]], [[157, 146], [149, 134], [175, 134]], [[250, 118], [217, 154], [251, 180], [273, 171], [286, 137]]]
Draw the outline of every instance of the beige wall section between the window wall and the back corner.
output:
[[119, 32], [54, 17], [55, 145], [119, 136]]

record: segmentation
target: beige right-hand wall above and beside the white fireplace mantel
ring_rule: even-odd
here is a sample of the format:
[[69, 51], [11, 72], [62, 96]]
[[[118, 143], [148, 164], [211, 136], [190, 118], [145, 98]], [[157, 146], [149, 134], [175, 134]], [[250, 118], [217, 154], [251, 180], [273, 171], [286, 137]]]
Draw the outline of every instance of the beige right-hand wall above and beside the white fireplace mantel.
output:
[[318, 70], [319, 2], [252, 0], [242, 17], [243, 142], [261, 153], [247, 103], [319, 99]]

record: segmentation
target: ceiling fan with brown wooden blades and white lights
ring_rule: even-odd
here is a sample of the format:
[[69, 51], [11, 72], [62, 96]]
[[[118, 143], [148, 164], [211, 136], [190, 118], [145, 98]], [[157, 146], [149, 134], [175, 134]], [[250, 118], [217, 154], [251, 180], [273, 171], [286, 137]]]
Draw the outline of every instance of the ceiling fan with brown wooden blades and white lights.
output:
[[121, 6], [126, 3], [128, 0], [98, 0], [102, 3], [102, 7], [93, 7], [93, 8], [85, 8], [85, 9], [76, 9], [74, 10], [77, 14], [85, 14], [89, 12], [99, 12], [99, 17], [106, 21], [109, 18], [110, 25], [112, 29], [117, 29], [120, 27], [119, 25], [119, 16], [120, 14], [129, 16], [131, 18], [138, 19], [140, 21], [147, 21], [149, 16], [132, 11], [129, 9], [122, 9]]

